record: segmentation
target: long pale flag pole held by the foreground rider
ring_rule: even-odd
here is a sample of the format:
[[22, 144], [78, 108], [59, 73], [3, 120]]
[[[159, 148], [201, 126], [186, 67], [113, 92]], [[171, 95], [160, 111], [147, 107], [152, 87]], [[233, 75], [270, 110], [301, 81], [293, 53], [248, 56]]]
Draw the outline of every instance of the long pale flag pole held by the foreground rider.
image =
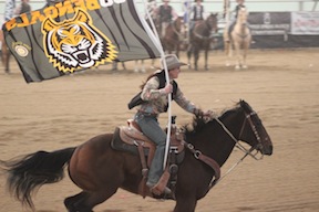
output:
[[[143, 4], [147, 6], [145, 0], [143, 0]], [[146, 17], [150, 20], [151, 26], [152, 26], [152, 31], [155, 34], [156, 41], [157, 41], [157, 47], [160, 50], [161, 53], [161, 59], [163, 61], [163, 65], [164, 65], [164, 71], [165, 71], [165, 80], [166, 80], [166, 85], [169, 83], [169, 77], [168, 77], [168, 70], [167, 70], [167, 64], [165, 59], [165, 53], [164, 53], [164, 49], [161, 44], [161, 40], [158, 36], [158, 32], [156, 31], [155, 24], [153, 22], [153, 19], [150, 14], [150, 11], [147, 10], [146, 7]], [[168, 156], [168, 148], [169, 148], [169, 141], [171, 141], [171, 127], [172, 127], [172, 109], [171, 109], [171, 102], [172, 102], [172, 93], [168, 94], [168, 108], [167, 108], [167, 115], [168, 115], [168, 120], [167, 120], [167, 136], [166, 136], [166, 146], [165, 146], [165, 155], [164, 155], [164, 161], [163, 161], [163, 170], [166, 168], [166, 162], [167, 162], [167, 156]]]

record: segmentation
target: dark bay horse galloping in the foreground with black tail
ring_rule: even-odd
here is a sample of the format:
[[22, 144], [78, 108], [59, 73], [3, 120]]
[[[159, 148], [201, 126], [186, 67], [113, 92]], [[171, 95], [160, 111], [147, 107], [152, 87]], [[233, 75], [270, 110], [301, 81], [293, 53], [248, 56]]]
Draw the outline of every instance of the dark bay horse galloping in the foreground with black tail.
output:
[[[244, 158], [250, 155], [257, 159], [258, 152], [272, 153], [270, 137], [260, 118], [244, 100], [219, 117], [196, 117], [193, 125], [182, 129], [179, 135], [184, 132], [184, 160], [179, 161], [173, 195], [168, 197], [176, 201], [174, 212], [195, 211], [197, 201], [217, 182], [213, 180], [218, 172], [215, 170], [226, 162], [234, 147], [240, 147], [246, 153]], [[103, 134], [78, 147], [52, 152], [38, 151], [20, 159], [1, 161], [0, 165], [8, 173], [10, 191], [33, 210], [33, 191], [45, 183], [62, 180], [63, 169], [68, 166], [70, 178], [82, 189], [80, 193], [64, 200], [68, 211], [92, 212], [96, 204], [111, 198], [119, 188], [138, 194], [140, 186], [145, 183], [138, 155], [111, 147], [112, 139], [117, 136]], [[248, 144], [250, 149], [246, 149], [240, 141]], [[131, 148], [136, 147], [132, 145]], [[215, 161], [218, 169], [212, 169], [205, 161]], [[147, 195], [154, 197], [147, 192]]]

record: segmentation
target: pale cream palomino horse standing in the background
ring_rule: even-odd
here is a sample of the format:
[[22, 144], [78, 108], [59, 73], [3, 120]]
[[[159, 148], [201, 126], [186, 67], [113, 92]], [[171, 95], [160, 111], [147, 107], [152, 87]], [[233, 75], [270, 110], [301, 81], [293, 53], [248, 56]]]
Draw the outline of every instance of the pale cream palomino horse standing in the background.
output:
[[[251, 34], [249, 28], [247, 26], [247, 10], [245, 8], [239, 9], [236, 24], [234, 26], [234, 30], [230, 32], [230, 38], [228, 38], [228, 29], [226, 28], [226, 30], [224, 31], [225, 53], [228, 59], [230, 59], [233, 54], [231, 50], [234, 46], [236, 54], [236, 70], [247, 68], [247, 51], [251, 43]], [[226, 65], [229, 66], [228, 61], [226, 61]]]

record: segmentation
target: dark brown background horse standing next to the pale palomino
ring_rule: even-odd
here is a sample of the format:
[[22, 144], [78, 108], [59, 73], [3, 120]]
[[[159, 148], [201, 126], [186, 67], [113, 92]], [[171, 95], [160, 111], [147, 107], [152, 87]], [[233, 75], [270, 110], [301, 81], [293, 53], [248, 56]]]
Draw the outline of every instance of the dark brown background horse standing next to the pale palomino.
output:
[[188, 64], [191, 64], [191, 56], [194, 53], [194, 68], [198, 70], [199, 51], [205, 51], [205, 70], [208, 70], [208, 51], [213, 41], [213, 33], [216, 33], [217, 26], [217, 13], [210, 14], [206, 20], [198, 21], [192, 30], [191, 43], [187, 50]]

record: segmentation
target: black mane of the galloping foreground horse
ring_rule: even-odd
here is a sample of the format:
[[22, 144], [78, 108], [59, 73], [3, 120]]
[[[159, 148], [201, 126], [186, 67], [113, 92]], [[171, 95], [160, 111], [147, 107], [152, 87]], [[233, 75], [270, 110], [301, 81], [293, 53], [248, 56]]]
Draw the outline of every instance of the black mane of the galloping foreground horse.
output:
[[191, 124], [184, 125], [182, 129], [185, 132], [186, 137], [194, 137], [196, 134], [202, 131], [207, 125], [212, 125], [216, 121], [216, 118], [223, 118], [224, 116], [227, 116], [228, 114], [237, 112], [237, 109], [240, 107], [240, 103], [236, 103], [234, 108], [230, 109], [224, 109], [220, 112], [220, 114], [213, 114], [210, 119], [207, 121], [207, 119], [203, 116], [195, 116], [193, 118], [193, 121]]

